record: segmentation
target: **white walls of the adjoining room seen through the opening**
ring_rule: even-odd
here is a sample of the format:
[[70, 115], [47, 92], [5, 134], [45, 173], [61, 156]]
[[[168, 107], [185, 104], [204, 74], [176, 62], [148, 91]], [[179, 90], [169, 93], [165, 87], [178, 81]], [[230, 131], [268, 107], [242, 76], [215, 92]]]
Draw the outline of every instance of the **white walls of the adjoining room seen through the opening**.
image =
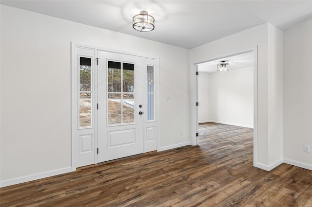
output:
[[[227, 72], [199, 73], [198, 98], [208, 99], [198, 105], [198, 121], [212, 121], [243, 127], [254, 127], [254, 68], [233, 69]], [[204, 100], [203, 100], [204, 101]], [[206, 105], [209, 103], [209, 105]], [[208, 111], [207, 111], [208, 109]], [[207, 111], [207, 112], [206, 112]], [[203, 114], [202, 114], [203, 113]]]

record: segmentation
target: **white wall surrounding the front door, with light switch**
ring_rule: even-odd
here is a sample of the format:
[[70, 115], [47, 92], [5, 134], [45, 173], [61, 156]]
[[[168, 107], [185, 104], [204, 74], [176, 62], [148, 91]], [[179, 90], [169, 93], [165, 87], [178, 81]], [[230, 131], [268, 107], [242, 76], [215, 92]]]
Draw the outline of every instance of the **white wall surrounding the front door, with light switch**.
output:
[[[1, 182], [37, 178], [71, 166], [71, 41], [158, 56], [159, 147], [190, 143], [188, 50], [0, 7]], [[171, 100], [165, 100], [166, 94]]]

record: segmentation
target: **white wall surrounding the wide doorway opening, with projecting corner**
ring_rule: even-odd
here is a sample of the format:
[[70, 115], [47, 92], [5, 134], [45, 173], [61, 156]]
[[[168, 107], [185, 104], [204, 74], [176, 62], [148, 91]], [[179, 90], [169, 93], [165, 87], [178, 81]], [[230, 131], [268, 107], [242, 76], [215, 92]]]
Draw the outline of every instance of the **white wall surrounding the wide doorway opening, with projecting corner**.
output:
[[[273, 90], [282, 94], [280, 87], [282, 76], [276, 76], [275, 71], [280, 73], [281, 68], [279, 66], [282, 65], [282, 60], [278, 58], [278, 55], [281, 55], [283, 51], [281, 41], [276, 41], [275, 37], [282, 39], [282, 32], [266, 23], [190, 50], [190, 84], [194, 86], [195, 79], [192, 78], [194, 77], [194, 64], [235, 54], [239, 51], [246, 51], [257, 46], [257, 148], [255, 149], [254, 165], [265, 170], [270, 170], [283, 161], [283, 132], [281, 127], [283, 116], [280, 110], [269, 115], [269, 108], [273, 108], [271, 105], [281, 103], [281, 96], [271, 96], [269, 91]], [[274, 55], [277, 54], [270, 57], [269, 52]], [[269, 71], [269, 69], [273, 71]], [[192, 100], [194, 100], [194, 95], [192, 95]], [[194, 113], [194, 109], [192, 112]], [[271, 121], [276, 121], [278, 125], [273, 138], [272, 133], [269, 133], [268, 123]], [[192, 129], [194, 130], [194, 127]], [[274, 142], [271, 139], [274, 139]]]

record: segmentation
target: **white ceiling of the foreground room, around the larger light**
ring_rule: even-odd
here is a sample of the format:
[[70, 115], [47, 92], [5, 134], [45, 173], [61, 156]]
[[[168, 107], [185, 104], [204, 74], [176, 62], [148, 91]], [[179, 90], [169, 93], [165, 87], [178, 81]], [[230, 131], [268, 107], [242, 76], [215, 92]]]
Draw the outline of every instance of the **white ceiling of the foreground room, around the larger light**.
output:
[[[1, 4], [191, 49], [269, 22], [281, 30], [312, 17], [312, 0], [1, 0]], [[138, 32], [146, 10], [155, 30]]]

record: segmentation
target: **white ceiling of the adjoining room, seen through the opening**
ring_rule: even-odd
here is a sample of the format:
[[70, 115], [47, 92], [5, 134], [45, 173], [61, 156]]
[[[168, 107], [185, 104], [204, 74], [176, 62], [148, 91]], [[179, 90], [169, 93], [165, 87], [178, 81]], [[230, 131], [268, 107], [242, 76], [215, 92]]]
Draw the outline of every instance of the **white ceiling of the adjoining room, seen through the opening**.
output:
[[217, 72], [217, 64], [221, 63], [222, 60], [229, 63], [229, 70], [254, 67], [254, 53], [246, 52], [198, 64], [198, 71], [208, 73]]

